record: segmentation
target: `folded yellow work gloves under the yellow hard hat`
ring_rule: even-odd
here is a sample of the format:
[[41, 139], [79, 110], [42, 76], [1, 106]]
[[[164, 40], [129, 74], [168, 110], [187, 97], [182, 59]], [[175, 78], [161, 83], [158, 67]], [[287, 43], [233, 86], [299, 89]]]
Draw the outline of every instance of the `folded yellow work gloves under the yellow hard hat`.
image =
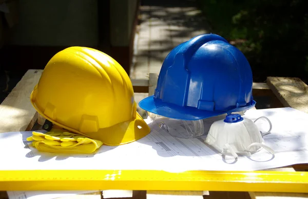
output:
[[51, 153], [93, 153], [103, 142], [69, 132], [32, 132], [27, 138], [38, 151]]

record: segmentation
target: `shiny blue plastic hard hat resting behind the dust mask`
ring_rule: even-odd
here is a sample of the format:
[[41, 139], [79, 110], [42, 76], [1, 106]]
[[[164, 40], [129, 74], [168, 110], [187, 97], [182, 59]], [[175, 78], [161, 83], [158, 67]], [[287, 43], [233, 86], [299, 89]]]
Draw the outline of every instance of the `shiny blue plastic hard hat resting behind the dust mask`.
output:
[[139, 106], [169, 118], [198, 120], [254, 107], [252, 88], [243, 53], [217, 34], [202, 34], [170, 51], [155, 94]]

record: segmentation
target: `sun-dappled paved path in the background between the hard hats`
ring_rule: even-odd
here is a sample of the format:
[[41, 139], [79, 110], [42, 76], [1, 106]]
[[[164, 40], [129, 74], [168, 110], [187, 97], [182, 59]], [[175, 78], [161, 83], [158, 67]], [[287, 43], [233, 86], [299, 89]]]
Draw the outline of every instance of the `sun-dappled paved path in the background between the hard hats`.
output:
[[[159, 74], [170, 50], [197, 35], [210, 32], [196, 1], [143, 0], [141, 4], [131, 79], [148, 79], [149, 73]], [[135, 100], [139, 103], [147, 96], [147, 93], [138, 93]], [[138, 112], [145, 116], [139, 106]]]

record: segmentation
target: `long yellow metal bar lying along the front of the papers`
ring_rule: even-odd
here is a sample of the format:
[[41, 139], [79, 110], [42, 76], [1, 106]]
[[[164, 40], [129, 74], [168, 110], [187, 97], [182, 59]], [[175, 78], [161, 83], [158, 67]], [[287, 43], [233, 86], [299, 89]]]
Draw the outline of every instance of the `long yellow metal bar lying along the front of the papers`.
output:
[[308, 193], [308, 172], [0, 171], [0, 190], [189, 190]]

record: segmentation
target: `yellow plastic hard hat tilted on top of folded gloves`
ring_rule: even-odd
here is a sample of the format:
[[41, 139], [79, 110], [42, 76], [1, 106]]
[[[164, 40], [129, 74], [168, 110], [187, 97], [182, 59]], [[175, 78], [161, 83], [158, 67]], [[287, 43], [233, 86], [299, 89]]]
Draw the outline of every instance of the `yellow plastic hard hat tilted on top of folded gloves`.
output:
[[56, 53], [30, 99], [35, 110], [54, 125], [109, 146], [150, 132], [137, 112], [126, 71], [92, 48], [69, 47]]

